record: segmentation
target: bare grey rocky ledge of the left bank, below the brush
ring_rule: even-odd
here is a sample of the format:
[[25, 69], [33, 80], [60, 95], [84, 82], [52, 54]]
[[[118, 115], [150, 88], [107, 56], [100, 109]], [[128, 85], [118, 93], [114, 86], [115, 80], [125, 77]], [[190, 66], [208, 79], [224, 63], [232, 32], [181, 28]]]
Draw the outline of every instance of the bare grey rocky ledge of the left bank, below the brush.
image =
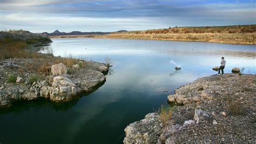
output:
[[[0, 61], [0, 107], [10, 106], [16, 100], [39, 97], [57, 102], [71, 100], [104, 84], [106, 78], [103, 73], [108, 71], [103, 63], [79, 60], [72, 68], [67, 68], [63, 63], [49, 66], [50, 74], [45, 75], [26, 70], [30, 63], [41, 65], [42, 62], [29, 58]], [[84, 66], [80, 67], [82, 64]], [[9, 81], [11, 76], [15, 78], [13, 83]]]

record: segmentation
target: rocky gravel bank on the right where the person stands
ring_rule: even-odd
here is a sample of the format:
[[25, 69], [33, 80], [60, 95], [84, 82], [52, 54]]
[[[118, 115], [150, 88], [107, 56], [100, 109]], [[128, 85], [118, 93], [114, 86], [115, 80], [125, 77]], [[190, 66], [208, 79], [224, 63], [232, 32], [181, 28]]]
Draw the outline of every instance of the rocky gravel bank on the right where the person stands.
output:
[[255, 74], [199, 78], [179, 87], [167, 125], [161, 113], [125, 128], [124, 143], [255, 143]]

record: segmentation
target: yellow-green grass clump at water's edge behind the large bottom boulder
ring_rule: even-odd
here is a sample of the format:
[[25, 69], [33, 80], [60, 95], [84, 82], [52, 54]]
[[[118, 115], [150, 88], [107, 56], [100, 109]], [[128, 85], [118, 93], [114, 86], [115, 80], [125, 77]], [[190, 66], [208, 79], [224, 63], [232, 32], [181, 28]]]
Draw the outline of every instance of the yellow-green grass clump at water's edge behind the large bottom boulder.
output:
[[158, 110], [158, 113], [160, 114], [160, 120], [165, 126], [167, 125], [168, 120], [171, 119], [173, 109], [174, 107], [171, 107], [169, 105], [161, 105]]

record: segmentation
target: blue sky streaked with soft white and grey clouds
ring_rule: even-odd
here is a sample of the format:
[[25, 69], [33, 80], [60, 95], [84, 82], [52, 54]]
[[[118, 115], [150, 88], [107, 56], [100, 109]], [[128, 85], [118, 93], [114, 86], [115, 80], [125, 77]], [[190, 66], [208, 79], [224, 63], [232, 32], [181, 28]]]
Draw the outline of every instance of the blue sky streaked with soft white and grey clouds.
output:
[[255, 0], [0, 0], [1, 30], [147, 30], [256, 24]]

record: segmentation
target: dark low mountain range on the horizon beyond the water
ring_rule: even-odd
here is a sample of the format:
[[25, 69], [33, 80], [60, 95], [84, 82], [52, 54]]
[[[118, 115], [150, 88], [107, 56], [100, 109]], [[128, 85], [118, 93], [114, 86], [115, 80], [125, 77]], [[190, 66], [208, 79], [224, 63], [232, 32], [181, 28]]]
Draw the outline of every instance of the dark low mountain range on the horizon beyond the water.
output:
[[[117, 32], [127, 32], [126, 30], [120, 30]], [[60, 32], [58, 30], [48, 33], [48, 32], [43, 32], [41, 33], [42, 35], [46, 36], [66, 36], [66, 35], [105, 35], [109, 34], [111, 32], [80, 32], [80, 31], [72, 31], [72, 32]]]

